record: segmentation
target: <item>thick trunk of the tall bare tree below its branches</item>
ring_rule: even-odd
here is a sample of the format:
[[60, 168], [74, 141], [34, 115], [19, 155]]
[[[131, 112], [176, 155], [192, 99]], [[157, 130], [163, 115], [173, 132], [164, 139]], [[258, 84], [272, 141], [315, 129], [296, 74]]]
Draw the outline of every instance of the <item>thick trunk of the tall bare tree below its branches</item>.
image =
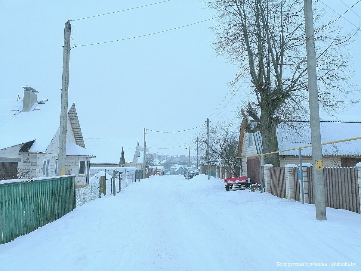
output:
[[[277, 119], [269, 115], [267, 108], [261, 108], [260, 120], [263, 153], [278, 151], [276, 129], [279, 123]], [[279, 167], [279, 154], [265, 155], [264, 164], [272, 164], [275, 167]]]

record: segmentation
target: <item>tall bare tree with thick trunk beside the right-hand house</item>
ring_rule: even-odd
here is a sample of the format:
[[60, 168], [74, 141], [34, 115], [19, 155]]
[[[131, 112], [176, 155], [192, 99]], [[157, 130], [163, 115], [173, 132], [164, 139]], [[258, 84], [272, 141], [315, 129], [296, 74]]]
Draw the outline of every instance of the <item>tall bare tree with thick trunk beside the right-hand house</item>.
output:
[[[263, 151], [278, 151], [277, 126], [309, 117], [305, 22], [303, 4], [296, 0], [207, 1], [217, 11], [215, 49], [238, 66], [231, 86], [241, 79], [252, 84], [248, 103], [240, 113], [248, 117], [246, 132], [260, 131]], [[350, 102], [349, 54], [345, 47], [358, 30], [344, 33], [332, 22], [322, 23], [316, 9], [315, 47], [321, 109], [334, 112]], [[289, 122], [292, 123], [292, 122]], [[265, 157], [279, 166], [279, 155]]]

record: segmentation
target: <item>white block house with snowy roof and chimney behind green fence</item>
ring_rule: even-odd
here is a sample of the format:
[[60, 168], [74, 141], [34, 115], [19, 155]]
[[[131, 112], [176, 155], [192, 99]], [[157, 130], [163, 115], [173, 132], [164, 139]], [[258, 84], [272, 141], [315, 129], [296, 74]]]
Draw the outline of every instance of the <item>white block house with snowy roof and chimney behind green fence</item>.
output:
[[[60, 97], [38, 100], [32, 87], [23, 87], [23, 100], [0, 116], [0, 177], [35, 178], [56, 176], [59, 152]], [[66, 174], [75, 174], [76, 183], [89, 178], [90, 159], [85, 149], [75, 104], [68, 112]]]

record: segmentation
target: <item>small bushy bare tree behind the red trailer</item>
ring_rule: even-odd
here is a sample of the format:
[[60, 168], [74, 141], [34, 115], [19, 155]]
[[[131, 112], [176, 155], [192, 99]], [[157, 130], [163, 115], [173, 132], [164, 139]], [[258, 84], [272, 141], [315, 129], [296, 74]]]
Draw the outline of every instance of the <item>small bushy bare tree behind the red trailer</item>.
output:
[[[201, 154], [200, 160], [206, 161], [207, 155], [209, 155], [212, 164], [229, 167], [231, 173], [239, 176], [239, 174], [243, 175], [243, 169], [242, 165], [238, 163], [239, 161], [234, 159], [238, 154], [238, 137], [234, 136], [234, 131], [233, 121], [215, 121], [214, 125], [209, 126], [209, 154], [206, 153], [206, 129], [198, 135], [198, 152]], [[235, 170], [239, 167], [240, 173]]]

